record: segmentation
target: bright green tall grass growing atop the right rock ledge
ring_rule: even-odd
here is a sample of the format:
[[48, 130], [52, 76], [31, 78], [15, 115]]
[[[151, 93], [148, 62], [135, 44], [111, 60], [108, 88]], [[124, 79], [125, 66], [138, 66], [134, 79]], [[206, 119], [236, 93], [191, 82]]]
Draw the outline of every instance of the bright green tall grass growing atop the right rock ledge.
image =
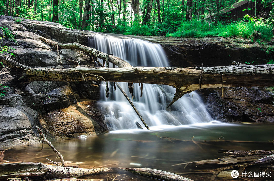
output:
[[198, 20], [182, 22], [175, 33], [168, 33], [166, 36], [172, 37], [231, 37], [237, 36], [247, 39], [254, 39], [254, 31], [261, 33], [262, 40], [270, 40], [273, 36], [272, 28], [264, 22], [259, 21], [236, 21], [230, 24], [221, 22], [209, 24]]

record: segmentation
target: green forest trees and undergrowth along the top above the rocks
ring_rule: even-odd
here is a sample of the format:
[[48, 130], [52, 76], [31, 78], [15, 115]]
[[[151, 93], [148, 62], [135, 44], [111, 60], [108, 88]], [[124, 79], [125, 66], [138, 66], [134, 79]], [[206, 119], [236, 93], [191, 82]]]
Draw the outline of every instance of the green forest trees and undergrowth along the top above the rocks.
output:
[[[242, 18], [222, 14], [235, 0], [0, 0], [0, 14], [58, 22], [65, 27], [106, 33], [173, 37], [230, 37], [270, 40], [274, 1], [251, 0]], [[251, 12], [255, 13], [251, 13]], [[232, 16], [232, 15], [231, 15]], [[234, 15], [235, 16], [235, 15]], [[21, 21], [20, 19], [16, 21]]]

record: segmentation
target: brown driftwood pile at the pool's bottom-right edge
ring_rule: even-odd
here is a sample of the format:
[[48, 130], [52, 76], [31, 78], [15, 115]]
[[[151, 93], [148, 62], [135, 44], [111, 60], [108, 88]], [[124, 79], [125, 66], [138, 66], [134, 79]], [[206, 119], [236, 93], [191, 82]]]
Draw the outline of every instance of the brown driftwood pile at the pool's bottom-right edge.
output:
[[[270, 162], [274, 162], [274, 154], [263, 157], [263, 155], [267, 152], [271, 153], [273, 150], [255, 150], [255, 151], [242, 151], [242, 150], [221, 150], [224, 153], [235, 153], [233, 154], [234, 157], [228, 157], [228, 158], [218, 158], [218, 159], [212, 159], [212, 160], [201, 160], [196, 162], [187, 162], [182, 164], [175, 164], [172, 166], [179, 166], [180, 171], [181, 167], [184, 167], [185, 171], [180, 172], [177, 174], [185, 175], [185, 174], [213, 174], [212, 180], [215, 179], [215, 177], [222, 177], [223, 179], [232, 179], [230, 176], [232, 170], [237, 170], [240, 174], [243, 173], [243, 171], [247, 167], [255, 166], [260, 164], [264, 170], [267, 170], [267, 166], [269, 166]], [[246, 153], [251, 152], [253, 155], [248, 156], [242, 156], [241, 154], [245, 155]], [[239, 154], [241, 156], [239, 156]], [[235, 157], [236, 156], [236, 157]], [[263, 158], [262, 158], [263, 157]], [[263, 167], [265, 166], [265, 167]], [[258, 167], [256, 167], [256, 171], [258, 170]], [[271, 168], [270, 168], [271, 171]], [[246, 171], [248, 173], [248, 171]], [[190, 177], [190, 176], [189, 176]]]

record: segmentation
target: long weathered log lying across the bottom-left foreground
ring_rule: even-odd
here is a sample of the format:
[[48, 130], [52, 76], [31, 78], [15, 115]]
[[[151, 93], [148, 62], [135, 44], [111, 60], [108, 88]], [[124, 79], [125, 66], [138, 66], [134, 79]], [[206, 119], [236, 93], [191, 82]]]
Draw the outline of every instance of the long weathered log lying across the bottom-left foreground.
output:
[[72, 168], [44, 165], [42, 163], [2, 164], [0, 165], [0, 179], [7, 179], [13, 177], [56, 179], [76, 176], [80, 177], [99, 175], [103, 173], [112, 173], [116, 171], [129, 171], [132, 173], [137, 173], [140, 175], [166, 181], [192, 181], [190, 179], [170, 172], [150, 168]]

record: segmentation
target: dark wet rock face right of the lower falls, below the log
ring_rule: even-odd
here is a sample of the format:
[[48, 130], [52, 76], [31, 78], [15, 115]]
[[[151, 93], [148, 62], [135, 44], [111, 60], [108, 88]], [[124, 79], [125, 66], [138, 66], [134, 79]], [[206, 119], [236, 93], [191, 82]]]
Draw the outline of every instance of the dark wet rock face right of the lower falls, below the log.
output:
[[202, 89], [209, 112], [226, 122], [274, 122], [274, 93], [266, 87], [225, 87]]

